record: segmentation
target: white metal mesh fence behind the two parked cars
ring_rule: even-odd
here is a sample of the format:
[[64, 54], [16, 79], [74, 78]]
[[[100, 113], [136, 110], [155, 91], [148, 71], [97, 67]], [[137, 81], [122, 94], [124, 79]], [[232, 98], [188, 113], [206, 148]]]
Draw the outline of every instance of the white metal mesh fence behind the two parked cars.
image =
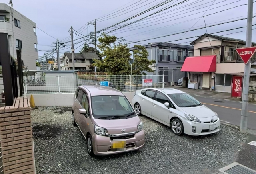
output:
[[[26, 94], [72, 93], [80, 85], [100, 85], [108, 81], [109, 86], [122, 92], [132, 92], [144, 88], [163, 88], [163, 75], [125, 75], [125, 76], [25, 76]], [[143, 86], [144, 79], [151, 79]]]

